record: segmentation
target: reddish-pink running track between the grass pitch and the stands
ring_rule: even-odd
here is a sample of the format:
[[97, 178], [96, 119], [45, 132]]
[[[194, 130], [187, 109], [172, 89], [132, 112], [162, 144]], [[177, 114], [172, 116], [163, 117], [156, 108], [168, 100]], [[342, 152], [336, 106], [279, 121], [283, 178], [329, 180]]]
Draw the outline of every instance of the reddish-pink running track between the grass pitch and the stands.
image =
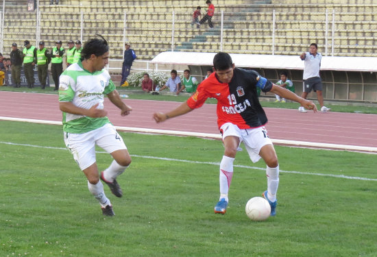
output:
[[[219, 134], [216, 106], [205, 104], [182, 117], [165, 123], [155, 123], [152, 113], [167, 112], [181, 103], [123, 99], [132, 106], [132, 113], [121, 117], [119, 109], [106, 98], [105, 108], [116, 126]], [[274, 140], [295, 140], [359, 147], [377, 147], [377, 115], [343, 112], [307, 112], [265, 108], [269, 123], [266, 127]], [[58, 96], [38, 93], [0, 91], [0, 117], [62, 121]], [[303, 144], [305, 145], [305, 144]], [[372, 151], [377, 151], [372, 149]]]

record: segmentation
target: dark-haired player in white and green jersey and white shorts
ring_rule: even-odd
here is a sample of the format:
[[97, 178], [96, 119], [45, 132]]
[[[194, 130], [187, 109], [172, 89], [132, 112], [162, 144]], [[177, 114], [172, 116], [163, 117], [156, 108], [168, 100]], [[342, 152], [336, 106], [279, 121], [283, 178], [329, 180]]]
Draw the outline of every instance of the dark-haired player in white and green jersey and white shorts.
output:
[[[82, 58], [71, 64], [60, 76], [59, 106], [63, 112], [63, 131], [66, 147], [88, 179], [90, 193], [99, 201], [102, 213], [114, 216], [112, 204], [106, 197], [104, 185], [117, 197], [123, 192], [117, 176], [131, 163], [123, 139], [110, 123], [104, 109], [104, 95], [121, 110], [130, 114], [132, 108], [123, 103], [104, 66], [108, 64], [108, 42], [102, 38], [88, 40], [82, 49]], [[111, 154], [114, 160], [105, 171], [97, 168], [95, 145]], [[101, 178], [101, 180], [99, 180]]]

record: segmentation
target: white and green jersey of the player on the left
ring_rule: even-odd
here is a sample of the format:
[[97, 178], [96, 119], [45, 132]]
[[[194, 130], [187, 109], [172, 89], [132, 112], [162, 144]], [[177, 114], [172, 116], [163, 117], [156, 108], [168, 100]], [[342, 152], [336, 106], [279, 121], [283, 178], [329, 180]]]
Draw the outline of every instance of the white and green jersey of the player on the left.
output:
[[[115, 90], [108, 71], [90, 73], [82, 67], [81, 61], [71, 64], [59, 78], [59, 101], [71, 101], [75, 106], [90, 109], [99, 103], [104, 108], [104, 95]], [[84, 115], [63, 112], [64, 132], [82, 134], [110, 123], [108, 117], [90, 118]]]

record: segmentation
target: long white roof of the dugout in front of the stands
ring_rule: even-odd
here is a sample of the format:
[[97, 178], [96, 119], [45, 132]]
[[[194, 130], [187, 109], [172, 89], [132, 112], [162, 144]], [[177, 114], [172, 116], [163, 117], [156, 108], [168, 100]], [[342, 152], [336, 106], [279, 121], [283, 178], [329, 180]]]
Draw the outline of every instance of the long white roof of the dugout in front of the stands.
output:
[[[166, 51], [159, 53], [151, 63], [212, 66], [216, 53]], [[297, 56], [230, 53], [236, 66], [241, 68], [303, 70], [304, 62]], [[376, 57], [323, 56], [323, 71], [369, 71], [377, 72]]]

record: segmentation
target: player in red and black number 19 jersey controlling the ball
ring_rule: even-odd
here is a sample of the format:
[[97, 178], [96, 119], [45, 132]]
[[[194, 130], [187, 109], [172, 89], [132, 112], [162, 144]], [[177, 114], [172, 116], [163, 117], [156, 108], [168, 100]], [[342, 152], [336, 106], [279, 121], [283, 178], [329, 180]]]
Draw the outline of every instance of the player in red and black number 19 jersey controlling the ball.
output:
[[241, 142], [244, 143], [252, 162], [263, 158], [267, 164], [267, 191], [263, 197], [269, 201], [271, 216], [276, 215], [276, 192], [279, 184], [279, 163], [276, 151], [265, 129], [267, 117], [260, 106], [256, 88], [271, 92], [285, 99], [297, 101], [309, 110], [317, 112], [312, 101], [298, 97], [261, 77], [256, 71], [234, 67], [228, 53], [219, 52], [213, 59], [214, 73], [197, 87], [196, 93], [186, 102], [167, 113], [154, 113], [159, 123], [201, 107], [208, 97], [217, 99], [217, 125], [225, 147], [220, 163], [220, 199], [215, 213], [224, 214], [228, 206], [228, 191], [233, 175], [233, 162]]

